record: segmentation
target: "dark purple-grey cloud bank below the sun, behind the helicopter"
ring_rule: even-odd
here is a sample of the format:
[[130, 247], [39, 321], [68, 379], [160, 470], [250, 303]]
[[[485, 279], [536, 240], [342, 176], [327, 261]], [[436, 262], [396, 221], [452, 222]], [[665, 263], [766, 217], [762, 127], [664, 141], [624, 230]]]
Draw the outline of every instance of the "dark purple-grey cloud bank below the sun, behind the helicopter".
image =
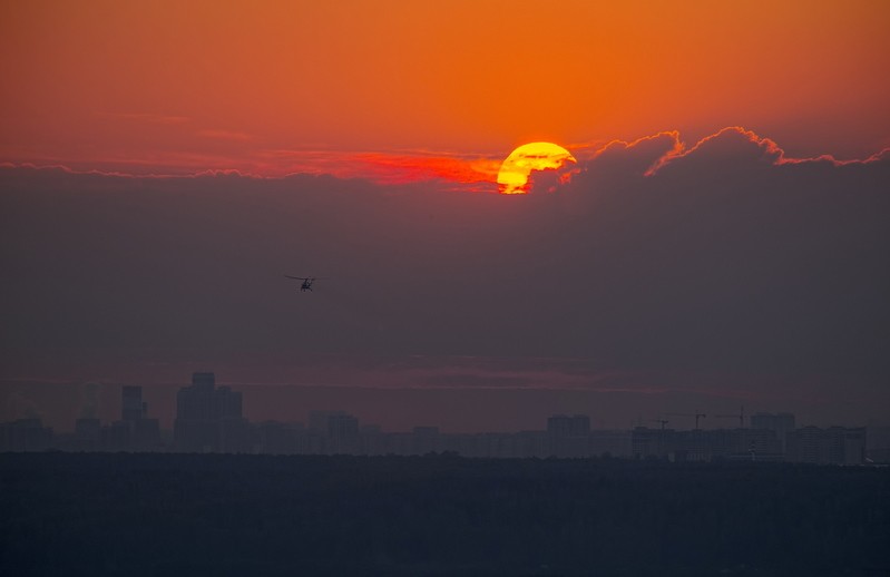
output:
[[[7, 362], [157, 348], [580, 358], [833, 375], [886, 400], [890, 159], [776, 165], [727, 133], [644, 176], [672, 146], [612, 147], [526, 197], [3, 168]], [[284, 273], [329, 278], [301, 294]]]

